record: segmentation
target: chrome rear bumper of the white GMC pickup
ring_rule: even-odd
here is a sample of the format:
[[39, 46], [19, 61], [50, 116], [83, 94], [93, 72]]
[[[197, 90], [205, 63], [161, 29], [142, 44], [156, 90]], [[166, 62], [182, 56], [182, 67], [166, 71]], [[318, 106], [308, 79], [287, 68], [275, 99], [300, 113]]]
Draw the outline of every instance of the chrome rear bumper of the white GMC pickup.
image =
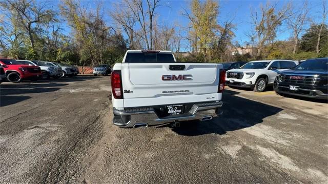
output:
[[221, 114], [218, 108], [222, 106], [222, 101], [211, 103], [197, 103], [184, 114], [169, 115], [159, 117], [155, 109], [151, 107], [138, 107], [118, 110], [113, 108], [113, 123], [119, 127], [132, 128], [138, 124], [147, 124], [148, 126], [161, 125], [174, 121], [187, 121], [194, 119], [211, 119]]

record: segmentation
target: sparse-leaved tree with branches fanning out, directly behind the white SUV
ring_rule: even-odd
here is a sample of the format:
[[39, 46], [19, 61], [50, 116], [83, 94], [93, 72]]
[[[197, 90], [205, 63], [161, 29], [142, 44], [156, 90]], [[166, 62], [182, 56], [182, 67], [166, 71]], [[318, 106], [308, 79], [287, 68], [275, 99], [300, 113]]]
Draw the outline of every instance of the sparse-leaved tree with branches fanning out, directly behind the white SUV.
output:
[[260, 6], [260, 13], [251, 9], [252, 24], [258, 42], [256, 57], [261, 58], [265, 45], [273, 42], [278, 27], [291, 16], [290, 9], [290, 3], [277, 10], [277, 4], [271, 5], [269, 2], [265, 6]]

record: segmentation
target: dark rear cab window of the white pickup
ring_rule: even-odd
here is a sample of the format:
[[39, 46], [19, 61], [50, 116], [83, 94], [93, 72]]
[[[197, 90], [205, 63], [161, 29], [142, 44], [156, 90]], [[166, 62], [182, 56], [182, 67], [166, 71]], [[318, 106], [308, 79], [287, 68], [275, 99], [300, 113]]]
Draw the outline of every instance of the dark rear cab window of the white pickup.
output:
[[173, 54], [128, 53], [125, 63], [175, 63]]

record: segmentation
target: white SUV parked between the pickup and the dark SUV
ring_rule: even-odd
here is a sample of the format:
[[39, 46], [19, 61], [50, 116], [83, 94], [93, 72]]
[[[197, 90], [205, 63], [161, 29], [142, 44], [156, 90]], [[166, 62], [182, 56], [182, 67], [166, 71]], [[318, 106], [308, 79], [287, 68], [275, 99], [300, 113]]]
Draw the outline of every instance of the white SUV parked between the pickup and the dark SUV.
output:
[[228, 70], [226, 84], [232, 87], [254, 88], [254, 91], [262, 92], [268, 85], [273, 85], [278, 72], [296, 65], [297, 61], [286, 59], [249, 62], [238, 69]]

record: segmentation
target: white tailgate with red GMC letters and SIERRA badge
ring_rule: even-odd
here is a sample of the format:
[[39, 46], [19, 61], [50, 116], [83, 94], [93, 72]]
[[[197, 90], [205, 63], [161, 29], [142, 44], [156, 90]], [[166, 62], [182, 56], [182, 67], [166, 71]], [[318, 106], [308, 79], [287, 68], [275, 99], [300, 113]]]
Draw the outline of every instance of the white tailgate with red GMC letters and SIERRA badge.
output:
[[220, 68], [204, 63], [122, 63], [124, 107], [221, 99]]

